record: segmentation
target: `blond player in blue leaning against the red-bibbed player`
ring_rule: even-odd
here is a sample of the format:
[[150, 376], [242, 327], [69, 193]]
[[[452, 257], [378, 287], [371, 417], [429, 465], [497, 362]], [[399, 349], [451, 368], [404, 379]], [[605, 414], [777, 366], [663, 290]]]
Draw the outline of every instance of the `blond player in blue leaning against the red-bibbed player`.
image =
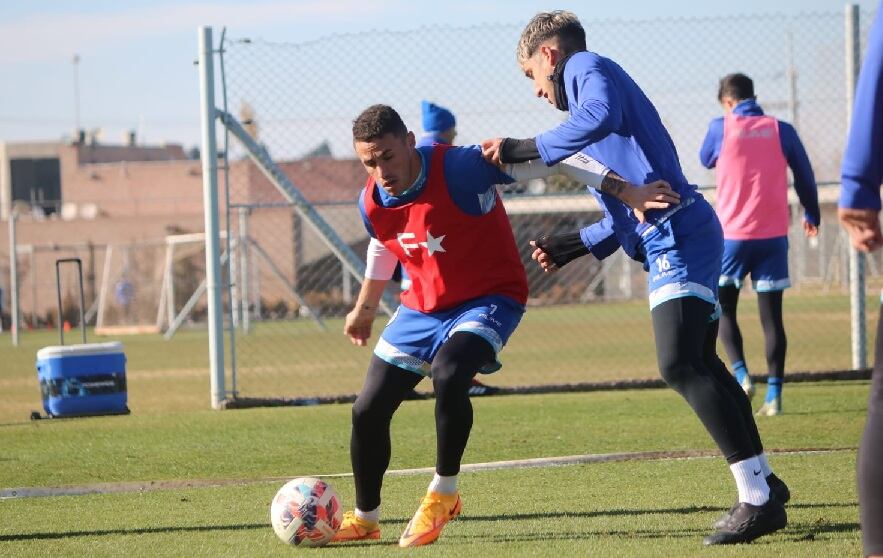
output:
[[662, 377], [696, 412], [738, 487], [738, 501], [704, 543], [747, 542], [781, 529], [787, 487], [769, 469], [748, 398], [716, 354], [723, 240], [714, 211], [684, 177], [653, 104], [615, 62], [586, 51], [576, 16], [536, 15], [521, 35], [518, 61], [535, 94], [570, 114], [536, 138], [483, 142], [486, 158], [507, 163], [541, 157], [551, 165], [582, 152], [632, 183], [663, 179], [681, 195], [680, 205], [649, 211], [647, 222], [639, 223], [625, 205], [599, 193], [601, 222], [539, 239], [534, 257], [552, 271], [579, 255], [603, 258], [621, 246], [644, 262]]

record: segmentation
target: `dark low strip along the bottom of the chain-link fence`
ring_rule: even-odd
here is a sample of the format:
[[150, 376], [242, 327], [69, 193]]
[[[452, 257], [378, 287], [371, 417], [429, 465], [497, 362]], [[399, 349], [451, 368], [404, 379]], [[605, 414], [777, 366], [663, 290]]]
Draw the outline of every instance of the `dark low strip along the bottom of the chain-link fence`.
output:
[[[766, 383], [767, 377], [752, 375], [756, 383]], [[849, 380], [869, 380], [871, 369], [859, 370], [828, 370], [823, 372], [789, 372], [785, 375], [786, 383], [829, 382]], [[660, 378], [644, 380], [612, 380], [608, 382], [577, 382], [571, 384], [543, 384], [531, 386], [495, 386], [495, 392], [474, 397], [496, 395], [532, 395], [548, 393], [584, 393], [590, 391], [618, 391], [628, 389], [661, 389], [666, 387]], [[431, 392], [417, 392], [420, 399], [431, 399]], [[352, 403], [356, 394], [318, 395], [305, 397], [232, 397], [221, 402], [222, 409], [251, 409], [255, 407], [305, 407], [311, 405], [329, 405], [336, 403]]]

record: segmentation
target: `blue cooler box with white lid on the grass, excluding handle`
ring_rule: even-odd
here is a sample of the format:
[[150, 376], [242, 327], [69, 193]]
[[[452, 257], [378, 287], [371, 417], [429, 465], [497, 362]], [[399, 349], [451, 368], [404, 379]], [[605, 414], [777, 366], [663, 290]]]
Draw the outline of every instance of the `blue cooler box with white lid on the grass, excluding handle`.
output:
[[37, 379], [50, 417], [129, 412], [122, 343], [43, 347], [37, 351]]

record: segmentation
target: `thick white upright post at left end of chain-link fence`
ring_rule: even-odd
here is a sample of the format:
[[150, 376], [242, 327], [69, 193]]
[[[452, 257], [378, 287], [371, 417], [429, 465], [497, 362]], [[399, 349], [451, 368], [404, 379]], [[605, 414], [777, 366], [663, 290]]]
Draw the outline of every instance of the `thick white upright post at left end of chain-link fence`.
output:
[[199, 100], [202, 127], [202, 200], [205, 214], [205, 279], [208, 299], [209, 373], [212, 408], [220, 409], [224, 390], [224, 314], [218, 226], [218, 148], [215, 142], [215, 80], [212, 28], [199, 28]]

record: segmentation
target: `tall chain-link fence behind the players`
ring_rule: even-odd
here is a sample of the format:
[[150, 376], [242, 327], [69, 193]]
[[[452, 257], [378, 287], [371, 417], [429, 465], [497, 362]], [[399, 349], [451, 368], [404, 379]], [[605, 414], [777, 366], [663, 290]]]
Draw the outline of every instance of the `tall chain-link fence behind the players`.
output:
[[[871, 21], [862, 14], [862, 37]], [[848, 243], [836, 224], [840, 157], [847, 126], [844, 15], [744, 16], [653, 21], [584, 21], [590, 50], [621, 64], [654, 102], [678, 147], [685, 174], [711, 186], [699, 147], [720, 116], [719, 78], [744, 72], [768, 114], [795, 124], [820, 185], [823, 225], [806, 239], [794, 206], [785, 297], [789, 371], [850, 367]], [[450, 108], [457, 143], [529, 137], [560, 121], [515, 62], [522, 25], [367, 32], [300, 44], [227, 34], [223, 97], [275, 165], [360, 257], [367, 233], [355, 199], [364, 174], [352, 153], [351, 122], [365, 107], [395, 107], [420, 134], [420, 101]], [[244, 396], [351, 393], [369, 352], [341, 334], [358, 292], [326, 242], [305, 224], [248, 157], [226, 138], [226, 226], [231, 253], [233, 389]], [[713, 192], [707, 192], [713, 194]], [[713, 196], [712, 196], [713, 197]], [[573, 230], [600, 215], [590, 197], [561, 180], [520, 185], [505, 197], [530, 282], [529, 310], [502, 353], [497, 385], [654, 377], [646, 277], [622, 254], [584, 258], [555, 275], [530, 261], [528, 241]], [[222, 227], [223, 227], [222, 221]], [[236, 263], [238, 262], [238, 263]], [[868, 292], [881, 283], [869, 259]], [[763, 339], [748, 289], [741, 323], [753, 370], [765, 370]], [[876, 296], [869, 297], [874, 300]], [[875, 313], [868, 313], [869, 323]], [[375, 324], [375, 338], [383, 320]], [[872, 328], [869, 328], [872, 329]], [[870, 335], [870, 333], [869, 333]]]

